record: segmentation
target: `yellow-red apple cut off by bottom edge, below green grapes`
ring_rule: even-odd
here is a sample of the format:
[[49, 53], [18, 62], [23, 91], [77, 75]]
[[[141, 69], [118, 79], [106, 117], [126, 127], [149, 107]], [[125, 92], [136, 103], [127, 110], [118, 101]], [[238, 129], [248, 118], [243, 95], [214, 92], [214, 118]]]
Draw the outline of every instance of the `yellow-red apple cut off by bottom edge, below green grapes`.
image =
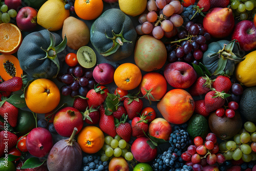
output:
[[123, 157], [113, 157], [110, 160], [109, 171], [129, 171], [129, 164]]

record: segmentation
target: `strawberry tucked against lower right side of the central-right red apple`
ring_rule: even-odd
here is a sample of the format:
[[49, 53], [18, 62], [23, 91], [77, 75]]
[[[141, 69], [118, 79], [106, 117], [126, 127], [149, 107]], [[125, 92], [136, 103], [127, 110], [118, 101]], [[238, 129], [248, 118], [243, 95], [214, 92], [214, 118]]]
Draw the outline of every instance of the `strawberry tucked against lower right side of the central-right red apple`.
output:
[[206, 94], [210, 91], [212, 80], [208, 77], [199, 77], [196, 82], [191, 86], [189, 94], [191, 96], [199, 96]]

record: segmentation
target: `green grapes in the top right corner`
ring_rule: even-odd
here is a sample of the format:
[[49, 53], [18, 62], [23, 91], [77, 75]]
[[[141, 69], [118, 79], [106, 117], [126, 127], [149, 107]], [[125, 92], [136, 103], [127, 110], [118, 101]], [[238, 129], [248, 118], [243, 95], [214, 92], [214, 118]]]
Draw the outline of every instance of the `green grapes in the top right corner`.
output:
[[253, 19], [256, 10], [255, 0], [230, 0], [231, 9], [235, 17], [240, 17], [241, 20]]

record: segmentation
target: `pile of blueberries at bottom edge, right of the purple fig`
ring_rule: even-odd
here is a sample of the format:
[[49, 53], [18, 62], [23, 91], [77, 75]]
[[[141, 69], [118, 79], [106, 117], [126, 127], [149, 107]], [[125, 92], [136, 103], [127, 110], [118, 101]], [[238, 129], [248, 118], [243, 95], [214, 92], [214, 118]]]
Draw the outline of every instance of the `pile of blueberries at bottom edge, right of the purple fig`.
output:
[[83, 167], [82, 171], [108, 171], [109, 170], [109, 163], [108, 161], [102, 162], [100, 160], [99, 155], [90, 155], [84, 156], [82, 159]]

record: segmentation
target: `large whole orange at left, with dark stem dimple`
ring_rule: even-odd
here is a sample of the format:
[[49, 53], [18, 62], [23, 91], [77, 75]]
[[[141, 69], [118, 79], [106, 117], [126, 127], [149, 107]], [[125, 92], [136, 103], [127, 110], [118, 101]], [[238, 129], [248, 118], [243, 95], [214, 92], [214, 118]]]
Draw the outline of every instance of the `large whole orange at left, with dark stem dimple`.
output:
[[46, 78], [34, 80], [25, 92], [28, 108], [39, 114], [53, 111], [60, 101], [60, 93], [56, 84]]

